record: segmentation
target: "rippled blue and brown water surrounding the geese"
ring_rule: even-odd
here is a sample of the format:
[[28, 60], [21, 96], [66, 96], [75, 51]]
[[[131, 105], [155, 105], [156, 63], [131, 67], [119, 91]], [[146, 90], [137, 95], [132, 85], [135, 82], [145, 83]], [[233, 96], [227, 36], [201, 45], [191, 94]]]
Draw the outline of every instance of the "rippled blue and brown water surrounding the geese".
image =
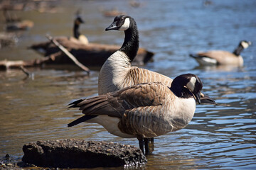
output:
[[[155, 138], [154, 154], [145, 169], [256, 169], [256, 48], [242, 52], [244, 67], [198, 67], [188, 57], [199, 50], [233, 51], [240, 40], [256, 42], [256, 1], [141, 1], [132, 8], [128, 1], [65, 1], [61, 13], [28, 11], [21, 16], [35, 22], [15, 47], [1, 50], [0, 59], [29, 60], [40, 57], [26, 50], [45, 34], [71, 35], [74, 13], [82, 9], [86, 24], [81, 32], [89, 40], [122, 44], [124, 35], [105, 32], [113, 18], [99, 8], [116, 6], [137, 21], [141, 47], [156, 53], [151, 69], [169, 77], [191, 72], [203, 81], [203, 92], [218, 106], [197, 106], [191, 123], [177, 132]], [[64, 67], [64, 66], [63, 66]], [[100, 125], [84, 123], [67, 128], [81, 114], [67, 111], [70, 101], [97, 95], [97, 75], [87, 77], [72, 69], [29, 69], [35, 78], [19, 70], [0, 72], [0, 156], [21, 158], [21, 147], [37, 140], [78, 138], [122, 142], [138, 147], [136, 139], [122, 139]], [[118, 169], [118, 168], [117, 168]]]

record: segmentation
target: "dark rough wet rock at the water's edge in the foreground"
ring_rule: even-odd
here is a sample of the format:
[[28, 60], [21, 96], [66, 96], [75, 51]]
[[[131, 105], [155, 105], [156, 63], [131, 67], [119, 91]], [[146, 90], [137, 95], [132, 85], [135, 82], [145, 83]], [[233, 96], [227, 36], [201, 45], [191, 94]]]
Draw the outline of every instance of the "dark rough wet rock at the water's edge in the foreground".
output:
[[47, 140], [23, 146], [23, 162], [43, 167], [138, 166], [146, 157], [137, 147], [113, 142]]

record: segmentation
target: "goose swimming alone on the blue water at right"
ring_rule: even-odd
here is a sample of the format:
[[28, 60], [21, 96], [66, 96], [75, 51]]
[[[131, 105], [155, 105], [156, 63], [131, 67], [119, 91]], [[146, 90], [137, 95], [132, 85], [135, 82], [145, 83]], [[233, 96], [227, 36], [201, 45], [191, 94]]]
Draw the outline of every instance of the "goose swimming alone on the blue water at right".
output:
[[199, 64], [213, 65], [213, 64], [230, 64], [242, 66], [243, 59], [240, 53], [245, 48], [252, 45], [252, 42], [242, 40], [233, 53], [221, 50], [212, 50], [208, 52], [198, 52], [197, 54], [190, 54]]

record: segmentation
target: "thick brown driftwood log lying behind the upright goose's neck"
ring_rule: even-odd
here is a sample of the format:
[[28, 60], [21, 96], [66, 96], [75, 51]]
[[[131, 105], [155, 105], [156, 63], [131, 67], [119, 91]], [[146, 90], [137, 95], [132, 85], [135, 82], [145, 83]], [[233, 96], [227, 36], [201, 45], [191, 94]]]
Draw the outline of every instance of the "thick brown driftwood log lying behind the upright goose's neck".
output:
[[[68, 49], [79, 62], [87, 67], [102, 67], [102, 64], [110, 55], [119, 50], [119, 45], [104, 45], [90, 42], [84, 45], [75, 38], [58, 37], [55, 38], [63, 47]], [[53, 55], [60, 50], [52, 42], [41, 42], [30, 47], [33, 50], [43, 53], [44, 56]], [[152, 61], [154, 53], [139, 48], [138, 55], [135, 57], [133, 64], [142, 65]], [[73, 64], [73, 62], [63, 53], [55, 55], [55, 60], [51, 64]]]

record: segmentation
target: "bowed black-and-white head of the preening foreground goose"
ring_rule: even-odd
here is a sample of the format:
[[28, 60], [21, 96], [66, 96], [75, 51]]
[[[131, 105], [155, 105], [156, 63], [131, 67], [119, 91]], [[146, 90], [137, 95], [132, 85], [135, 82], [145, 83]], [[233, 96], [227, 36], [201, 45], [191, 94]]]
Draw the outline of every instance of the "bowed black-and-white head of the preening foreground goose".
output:
[[180, 98], [195, 98], [201, 103], [201, 90], [203, 84], [195, 74], [182, 74], [174, 79], [171, 91]]

